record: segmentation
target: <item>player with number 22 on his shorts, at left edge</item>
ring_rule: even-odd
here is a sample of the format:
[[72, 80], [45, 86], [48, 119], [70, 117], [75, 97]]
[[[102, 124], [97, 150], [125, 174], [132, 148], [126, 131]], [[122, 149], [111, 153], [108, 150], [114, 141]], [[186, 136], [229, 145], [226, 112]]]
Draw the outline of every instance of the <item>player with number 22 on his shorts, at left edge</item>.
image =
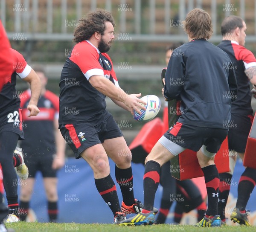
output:
[[37, 103], [41, 93], [41, 81], [19, 52], [14, 49], [10, 49], [10, 52], [13, 56], [13, 72], [0, 92], [0, 163], [10, 215], [18, 217], [18, 179], [13, 165], [13, 152], [18, 140], [24, 139], [24, 136], [20, 97], [15, 88], [16, 77], [18, 75], [30, 84], [31, 99], [27, 106], [29, 116], [36, 116], [39, 113]]

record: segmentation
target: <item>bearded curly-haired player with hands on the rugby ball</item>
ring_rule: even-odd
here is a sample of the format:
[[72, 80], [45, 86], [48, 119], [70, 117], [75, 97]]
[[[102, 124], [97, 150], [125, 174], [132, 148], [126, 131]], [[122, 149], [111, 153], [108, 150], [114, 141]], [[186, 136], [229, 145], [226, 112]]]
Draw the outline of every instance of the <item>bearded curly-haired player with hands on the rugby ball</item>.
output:
[[[140, 94], [128, 95], [119, 87], [106, 53], [115, 38], [114, 26], [111, 13], [102, 9], [79, 20], [74, 33], [76, 45], [61, 73], [59, 128], [76, 159], [82, 157], [93, 169], [96, 188], [118, 224], [125, 219], [125, 213], [138, 213], [142, 205], [134, 199], [131, 151], [106, 110], [105, 97], [131, 114], [134, 109], [138, 113], [145, 110], [140, 102], [146, 103], [138, 99]], [[116, 163], [116, 180], [123, 197], [121, 207], [108, 156]]]

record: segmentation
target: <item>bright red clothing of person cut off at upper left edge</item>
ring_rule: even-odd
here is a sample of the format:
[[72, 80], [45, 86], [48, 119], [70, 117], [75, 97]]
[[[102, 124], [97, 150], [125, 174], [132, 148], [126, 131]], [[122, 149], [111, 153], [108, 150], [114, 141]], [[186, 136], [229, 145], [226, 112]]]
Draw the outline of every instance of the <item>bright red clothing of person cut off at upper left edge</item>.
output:
[[10, 54], [10, 42], [7, 38], [5, 29], [0, 21], [0, 91], [8, 78], [12, 75], [12, 54]]

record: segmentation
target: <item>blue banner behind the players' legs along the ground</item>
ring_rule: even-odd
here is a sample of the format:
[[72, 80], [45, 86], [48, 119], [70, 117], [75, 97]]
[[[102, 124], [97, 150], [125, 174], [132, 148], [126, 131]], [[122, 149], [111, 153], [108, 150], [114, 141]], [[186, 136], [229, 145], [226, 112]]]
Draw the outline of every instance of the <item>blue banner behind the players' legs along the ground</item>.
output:
[[[110, 160], [111, 176], [115, 181], [115, 165]], [[134, 195], [143, 202], [143, 174], [142, 164], [133, 164], [134, 174]], [[233, 184], [230, 189], [230, 197], [227, 203], [226, 212], [230, 215], [236, 204], [237, 186], [244, 167], [241, 160], [238, 160], [233, 175]], [[116, 184], [119, 201], [122, 203], [122, 194]], [[93, 177], [93, 171], [83, 159], [69, 158], [65, 166], [58, 171], [58, 222], [76, 223], [113, 223], [113, 215], [102, 197], [99, 195]], [[162, 194], [162, 187], [159, 186], [155, 197], [155, 207], [159, 208]], [[44, 192], [44, 185], [41, 174], [36, 176], [36, 183], [30, 204], [39, 222], [47, 222], [47, 199]], [[173, 206], [170, 211], [167, 223], [173, 223]], [[247, 204], [250, 209], [250, 222], [256, 225], [256, 191], [254, 190]], [[193, 224], [196, 214], [189, 213], [183, 218], [183, 223]], [[230, 222], [231, 223], [231, 222]]]

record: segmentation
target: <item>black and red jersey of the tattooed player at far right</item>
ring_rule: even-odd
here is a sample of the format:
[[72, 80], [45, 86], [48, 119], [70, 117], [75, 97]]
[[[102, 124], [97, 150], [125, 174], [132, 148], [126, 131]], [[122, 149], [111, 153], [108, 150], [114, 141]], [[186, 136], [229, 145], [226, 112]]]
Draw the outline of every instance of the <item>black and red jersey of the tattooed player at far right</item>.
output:
[[236, 41], [224, 40], [218, 44], [218, 47], [229, 55], [236, 72], [238, 91], [237, 98], [232, 102], [231, 113], [252, 115], [250, 81], [244, 70], [256, 66], [256, 58], [252, 52]]

